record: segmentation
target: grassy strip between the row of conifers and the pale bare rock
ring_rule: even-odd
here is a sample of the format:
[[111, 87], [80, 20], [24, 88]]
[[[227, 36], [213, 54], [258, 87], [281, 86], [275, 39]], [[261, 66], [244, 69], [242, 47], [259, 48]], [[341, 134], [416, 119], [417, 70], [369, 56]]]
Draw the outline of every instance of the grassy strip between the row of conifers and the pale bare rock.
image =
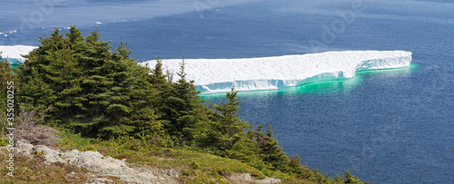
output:
[[239, 160], [222, 158], [210, 153], [189, 148], [169, 149], [145, 146], [139, 140], [94, 140], [79, 135], [64, 133], [60, 147], [63, 150], [97, 150], [104, 156], [125, 159], [134, 164], [153, 166], [162, 169], [175, 169], [180, 173], [183, 183], [228, 183], [226, 177], [232, 172], [250, 173], [256, 179], [265, 176], [281, 179], [283, 183], [340, 183], [341, 180], [329, 179], [317, 170], [307, 169], [308, 177], [295, 179], [280, 171], [259, 170]]

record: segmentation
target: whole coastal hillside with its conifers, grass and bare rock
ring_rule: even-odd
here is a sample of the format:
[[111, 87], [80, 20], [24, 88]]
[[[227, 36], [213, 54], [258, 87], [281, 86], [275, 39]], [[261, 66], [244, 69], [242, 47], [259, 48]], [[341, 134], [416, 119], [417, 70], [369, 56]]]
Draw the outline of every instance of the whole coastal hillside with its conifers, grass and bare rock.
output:
[[5, 182], [362, 183], [288, 157], [271, 125], [239, 118], [234, 88], [224, 103], [202, 101], [184, 61], [173, 82], [159, 59], [150, 69], [123, 43], [111, 48], [72, 26], [40, 38], [14, 70], [1, 62], [2, 164], [15, 166], [2, 165]]

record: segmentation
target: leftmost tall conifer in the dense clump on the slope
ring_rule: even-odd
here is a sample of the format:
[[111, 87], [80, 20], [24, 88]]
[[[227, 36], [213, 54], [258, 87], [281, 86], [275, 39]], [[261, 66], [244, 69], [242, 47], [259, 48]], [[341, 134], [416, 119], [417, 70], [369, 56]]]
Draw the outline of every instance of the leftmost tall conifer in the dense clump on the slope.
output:
[[[64, 39], [58, 29], [51, 37], [40, 37], [40, 43], [40, 47], [25, 55], [27, 60], [18, 67], [17, 73], [22, 81], [20, 100], [53, 106], [51, 111], [55, 117], [67, 116], [68, 112], [73, 112], [68, 111], [71, 106], [78, 103], [73, 94], [81, 91], [75, 80], [80, 70], [71, 54], [72, 43]], [[57, 118], [54, 122], [60, 120]]]

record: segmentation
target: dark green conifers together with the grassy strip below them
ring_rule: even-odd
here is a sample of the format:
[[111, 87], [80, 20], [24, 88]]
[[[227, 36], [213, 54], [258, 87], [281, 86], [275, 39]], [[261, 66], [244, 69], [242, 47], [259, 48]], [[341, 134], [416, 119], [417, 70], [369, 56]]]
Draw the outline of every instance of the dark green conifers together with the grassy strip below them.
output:
[[40, 44], [15, 75], [0, 80], [15, 78], [21, 107], [48, 110], [40, 123], [60, 130], [61, 149], [178, 169], [183, 183], [228, 183], [232, 173], [287, 183], [362, 183], [349, 171], [330, 179], [301, 166], [298, 156], [287, 157], [271, 126], [263, 132], [262, 125], [239, 119], [234, 89], [225, 103], [202, 101], [185, 79], [184, 58], [172, 82], [159, 59], [154, 69], [140, 66], [123, 43], [112, 52], [96, 32], [84, 37], [75, 26], [66, 34], [55, 29]]

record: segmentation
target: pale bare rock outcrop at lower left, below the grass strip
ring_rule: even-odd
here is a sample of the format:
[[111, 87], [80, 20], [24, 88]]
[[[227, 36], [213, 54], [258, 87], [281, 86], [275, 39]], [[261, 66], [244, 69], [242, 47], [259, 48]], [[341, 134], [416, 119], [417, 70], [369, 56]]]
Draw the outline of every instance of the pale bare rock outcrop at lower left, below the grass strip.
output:
[[[176, 174], [173, 171], [163, 169], [154, 169], [144, 166], [128, 166], [125, 160], [116, 160], [112, 157], [104, 157], [97, 151], [80, 151], [71, 150], [62, 152], [53, 150], [43, 145], [34, 146], [25, 142], [17, 142], [16, 152], [23, 155], [40, 155], [44, 157], [44, 163], [51, 164], [54, 162], [63, 162], [66, 164], [82, 167], [94, 175], [88, 175], [87, 183], [113, 183], [112, 179], [105, 179], [106, 176], [119, 178], [126, 183], [177, 183], [174, 179]], [[75, 173], [70, 173], [75, 174]], [[160, 177], [156, 177], [159, 175]]]

